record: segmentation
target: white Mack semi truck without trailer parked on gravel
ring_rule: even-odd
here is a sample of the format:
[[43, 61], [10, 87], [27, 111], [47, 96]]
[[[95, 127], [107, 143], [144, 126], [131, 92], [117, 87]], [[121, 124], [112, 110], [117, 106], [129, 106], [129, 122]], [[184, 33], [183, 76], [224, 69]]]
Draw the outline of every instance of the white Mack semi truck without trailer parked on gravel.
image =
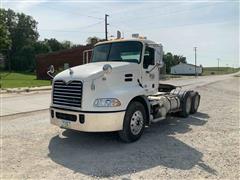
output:
[[134, 142], [145, 127], [169, 115], [196, 113], [199, 93], [159, 83], [162, 66], [163, 46], [145, 38], [97, 43], [90, 63], [53, 78], [51, 124], [82, 132], [116, 131], [124, 142]]

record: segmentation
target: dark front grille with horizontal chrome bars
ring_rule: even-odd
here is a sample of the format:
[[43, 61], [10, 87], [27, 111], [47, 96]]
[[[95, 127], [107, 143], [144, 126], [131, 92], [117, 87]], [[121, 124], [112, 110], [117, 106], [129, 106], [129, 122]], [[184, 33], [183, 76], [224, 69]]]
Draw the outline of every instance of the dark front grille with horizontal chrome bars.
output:
[[81, 107], [82, 82], [71, 81], [70, 83], [65, 83], [61, 80], [55, 81], [53, 85], [53, 104]]

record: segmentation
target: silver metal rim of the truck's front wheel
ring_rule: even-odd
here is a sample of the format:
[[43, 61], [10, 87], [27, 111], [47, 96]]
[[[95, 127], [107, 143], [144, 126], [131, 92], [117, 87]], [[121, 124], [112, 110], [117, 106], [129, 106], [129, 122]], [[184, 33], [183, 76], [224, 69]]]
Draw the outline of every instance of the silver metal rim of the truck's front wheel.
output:
[[143, 127], [143, 115], [141, 111], [136, 111], [133, 113], [130, 122], [130, 129], [132, 134], [137, 135], [140, 133]]

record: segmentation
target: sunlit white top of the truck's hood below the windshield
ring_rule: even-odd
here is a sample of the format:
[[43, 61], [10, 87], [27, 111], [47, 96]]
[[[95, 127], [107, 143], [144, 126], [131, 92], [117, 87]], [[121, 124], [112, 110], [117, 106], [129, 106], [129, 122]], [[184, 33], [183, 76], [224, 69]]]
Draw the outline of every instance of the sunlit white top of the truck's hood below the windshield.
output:
[[103, 66], [105, 64], [110, 64], [112, 66], [112, 73], [119, 72], [119, 71], [125, 71], [129, 72], [131, 70], [134, 70], [136, 66], [138, 66], [137, 63], [130, 63], [130, 62], [94, 62], [84, 65], [79, 65], [72, 67], [72, 74], [70, 74], [70, 70], [66, 69], [62, 71], [61, 73], [57, 74], [54, 78], [54, 80], [57, 79], [64, 79], [64, 80], [72, 80], [72, 79], [79, 79], [83, 81], [87, 81], [89, 79], [98, 77], [103, 74]]

